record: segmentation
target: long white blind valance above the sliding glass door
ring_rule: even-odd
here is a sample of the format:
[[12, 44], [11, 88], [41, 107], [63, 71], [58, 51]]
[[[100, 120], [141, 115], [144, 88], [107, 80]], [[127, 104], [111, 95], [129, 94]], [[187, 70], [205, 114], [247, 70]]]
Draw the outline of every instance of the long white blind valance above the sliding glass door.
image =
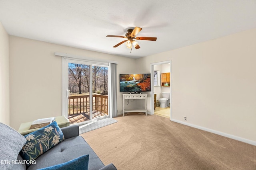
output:
[[73, 54], [68, 54], [68, 53], [60, 53], [60, 52], [55, 52], [54, 53], [55, 56], [61, 56], [61, 57], [65, 57], [66, 59], [82, 59], [84, 61], [89, 61], [91, 63], [99, 63], [99, 64], [104, 64], [104, 63], [115, 63], [118, 64], [117, 61], [111, 61], [111, 60], [102, 60], [102, 59], [95, 59], [95, 58], [89, 58], [89, 57], [84, 57], [84, 56], [79, 56], [79, 55], [73, 55]]

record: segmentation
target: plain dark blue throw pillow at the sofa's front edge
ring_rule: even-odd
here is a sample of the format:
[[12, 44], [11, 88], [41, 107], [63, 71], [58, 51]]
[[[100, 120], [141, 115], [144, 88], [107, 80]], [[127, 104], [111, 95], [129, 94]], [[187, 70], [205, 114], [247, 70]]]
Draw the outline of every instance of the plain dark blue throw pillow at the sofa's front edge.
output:
[[80, 156], [63, 164], [49, 166], [39, 170], [88, 170], [89, 155]]

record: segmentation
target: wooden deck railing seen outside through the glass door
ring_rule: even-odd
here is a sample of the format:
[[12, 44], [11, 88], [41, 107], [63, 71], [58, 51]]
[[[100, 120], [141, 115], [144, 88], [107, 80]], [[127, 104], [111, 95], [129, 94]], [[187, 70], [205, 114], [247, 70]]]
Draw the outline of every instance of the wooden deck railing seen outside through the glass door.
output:
[[[90, 96], [69, 96], [68, 97], [68, 115], [77, 113], [87, 113], [90, 111]], [[92, 94], [92, 111], [97, 110], [108, 115], [108, 96], [101, 94]]]

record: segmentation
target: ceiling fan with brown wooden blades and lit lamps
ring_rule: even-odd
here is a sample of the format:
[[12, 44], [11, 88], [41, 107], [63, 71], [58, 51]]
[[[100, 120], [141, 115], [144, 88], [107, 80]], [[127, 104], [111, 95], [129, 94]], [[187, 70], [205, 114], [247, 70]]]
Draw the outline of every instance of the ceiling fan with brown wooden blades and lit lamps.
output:
[[120, 37], [120, 38], [127, 38], [127, 40], [124, 40], [120, 43], [118, 43], [117, 45], [113, 46], [118, 47], [119, 45], [121, 45], [122, 43], [125, 43], [126, 47], [131, 49], [131, 53], [132, 53], [132, 45], [135, 47], [135, 49], [139, 49], [140, 46], [138, 45], [138, 43], [134, 40], [149, 40], [149, 41], [156, 41], [156, 37], [135, 37], [140, 31], [142, 30], [142, 28], [140, 27], [135, 27], [134, 29], [128, 29], [127, 33], [124, 36], [119, 36], [119, 35], [107, 35], [106, 37]]

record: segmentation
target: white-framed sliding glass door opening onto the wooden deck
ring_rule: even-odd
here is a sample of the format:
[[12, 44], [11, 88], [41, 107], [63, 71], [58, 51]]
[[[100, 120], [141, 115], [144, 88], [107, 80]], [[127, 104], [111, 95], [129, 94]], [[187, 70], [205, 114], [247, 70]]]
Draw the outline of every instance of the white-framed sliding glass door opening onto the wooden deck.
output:
[[71, 124], [109, 117], [108, 66], [62, 60], [62, 114]]

